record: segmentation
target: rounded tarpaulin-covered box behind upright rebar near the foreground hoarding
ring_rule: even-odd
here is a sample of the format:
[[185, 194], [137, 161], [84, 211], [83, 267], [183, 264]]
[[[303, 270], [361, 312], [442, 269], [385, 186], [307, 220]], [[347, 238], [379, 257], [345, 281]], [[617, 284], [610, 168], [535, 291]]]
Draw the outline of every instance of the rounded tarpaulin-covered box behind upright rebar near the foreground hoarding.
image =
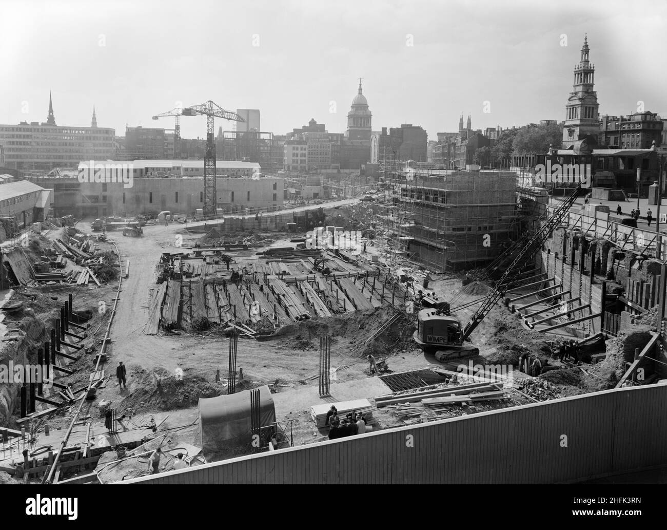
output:
[[[229, 453], [239, 447], [251, 449], [250, 392], [199, 399], [199, 431], [205, 455]], [[259, 387], [259, 411], [261, 427], [275, 423], [275, 406], [266, 385]]]

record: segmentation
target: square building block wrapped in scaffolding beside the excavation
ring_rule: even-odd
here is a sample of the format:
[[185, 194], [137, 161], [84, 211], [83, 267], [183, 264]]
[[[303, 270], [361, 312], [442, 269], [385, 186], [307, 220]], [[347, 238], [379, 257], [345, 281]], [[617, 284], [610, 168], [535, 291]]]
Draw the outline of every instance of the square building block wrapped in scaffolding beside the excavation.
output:
[[403, 254], [434, 272], [480, 266], [521, 232], [514, 172], [388, 171], [385, 214], [392, 260]]

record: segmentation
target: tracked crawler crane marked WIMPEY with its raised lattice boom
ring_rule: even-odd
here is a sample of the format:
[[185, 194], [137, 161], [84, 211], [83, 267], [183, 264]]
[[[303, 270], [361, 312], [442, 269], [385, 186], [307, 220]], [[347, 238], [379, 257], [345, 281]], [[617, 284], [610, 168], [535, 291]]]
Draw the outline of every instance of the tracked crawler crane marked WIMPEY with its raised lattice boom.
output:
[[522, 267], [542, 248], [554, 228], [558, 228], [581, 189], [581, 185], [577, 186], [526, 241], [512, 246], [494, 261], [494, 270], [498, 270], [498, 267], [503, 264], [509, 263], [509, 265], [489, 290], [466, 326], [462, 326], [460, 320], [452, 313], [470, 304], [458, 307], [450, 307], [450, 304], [445, 304], [440, 308], [420, 310], [417, 314], [417, 329], [412, 335], [418, 346], [424, 352], [434, 354], [440, 362], [477, 356], [480, 348], [470, 344], [470, 334], [496, 306], [496, 302], [502, 298], [510, 284], [516, 284], [520, 280]]

